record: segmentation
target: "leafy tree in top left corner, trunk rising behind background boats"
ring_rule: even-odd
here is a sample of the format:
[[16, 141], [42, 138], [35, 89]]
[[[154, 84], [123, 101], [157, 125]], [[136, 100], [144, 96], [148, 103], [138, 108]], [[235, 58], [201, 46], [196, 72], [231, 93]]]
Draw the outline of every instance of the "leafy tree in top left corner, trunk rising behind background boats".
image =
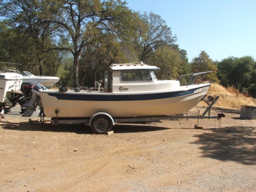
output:
[[8, 18], [14, 28], [22, 30], [34, 40], [40, 75], [44, 74], [43, 60], [52, 47], [50, 36], [58, 26], [49, 22], [58, 9], [51, 0], [5, 0], [0, 2], [1, 16]]

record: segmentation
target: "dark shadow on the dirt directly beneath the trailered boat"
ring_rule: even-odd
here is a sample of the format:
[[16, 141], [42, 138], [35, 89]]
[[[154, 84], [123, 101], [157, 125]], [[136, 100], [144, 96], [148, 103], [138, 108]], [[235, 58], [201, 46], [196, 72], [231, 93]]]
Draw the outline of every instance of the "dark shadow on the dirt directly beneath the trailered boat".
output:
[[[93, 134], [90, 126], [85, 126], [84, 124], [58, 124], [51, 125], [49, 123], [39, 123], [29, 125], [28, 122], [20, 123], [8, 123], [7, 127], [4, 129], [9, 130], [20, 130], [20, 131], [44, 131], [44, 132], [74, 132], [76, 134]], [[129, 124], [119, 124], [113, 126], [112, 130], [114, 133], [136, 133], [136, 132], [151, 132], [166, 130], [168, 128], [154, 126], [150, 124], [143, 125], [129, 125]]]

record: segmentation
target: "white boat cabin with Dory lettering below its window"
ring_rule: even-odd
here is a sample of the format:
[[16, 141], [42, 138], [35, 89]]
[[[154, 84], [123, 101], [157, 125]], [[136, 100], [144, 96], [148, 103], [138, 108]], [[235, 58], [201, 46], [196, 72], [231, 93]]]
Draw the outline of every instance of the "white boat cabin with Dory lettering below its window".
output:
[[143, 93], [170, 91], [180, 87], [177, 80], [157, 80], [154, 70], [143, 62], [111, 64], [105, 72], [104, 92], [108, 93]]

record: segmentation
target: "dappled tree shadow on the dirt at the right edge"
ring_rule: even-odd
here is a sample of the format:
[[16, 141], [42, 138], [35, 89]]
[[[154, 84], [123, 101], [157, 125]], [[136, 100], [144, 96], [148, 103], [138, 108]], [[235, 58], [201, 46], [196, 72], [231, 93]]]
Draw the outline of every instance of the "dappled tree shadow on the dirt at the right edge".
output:
[[256, 127], [226, 127], [195, 135], [202, 157], [256, 164]]

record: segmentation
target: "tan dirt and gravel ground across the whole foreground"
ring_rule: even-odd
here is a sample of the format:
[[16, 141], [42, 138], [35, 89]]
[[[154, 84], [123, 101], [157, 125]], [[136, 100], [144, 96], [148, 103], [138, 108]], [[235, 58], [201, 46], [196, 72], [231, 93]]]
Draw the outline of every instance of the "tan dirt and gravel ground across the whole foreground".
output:
[[[193, 108], [188, 115], [196, 115]], [[202, 110], [202, 109], [200, 109]], [[1, 192], [256, 191], [256, 120], [239, 110], [218, 120], [122, 124], [92, 134], [82, 124], [0, 126]], [[32, 118], [36, 120], [38, 118]]]

